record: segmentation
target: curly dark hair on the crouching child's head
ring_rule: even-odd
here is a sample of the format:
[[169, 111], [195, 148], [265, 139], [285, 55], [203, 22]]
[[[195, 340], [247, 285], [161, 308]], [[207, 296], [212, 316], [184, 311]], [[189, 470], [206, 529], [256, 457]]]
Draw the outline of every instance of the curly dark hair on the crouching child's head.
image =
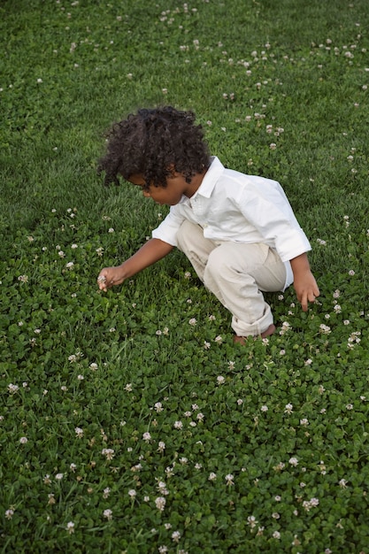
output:
[[115, 123], [107, 134], [107, 152], [100, 159], [98, 173], [104, 184], [119, 184], [118, 175], [129, 179], [140, 173], [146, 187], [165, 187], [166, 178], [182, 173], [189, 183], [196, 173], [210, 165], [204, 131], [195, 125], [193, 112], [171, 106], [139, 110]]

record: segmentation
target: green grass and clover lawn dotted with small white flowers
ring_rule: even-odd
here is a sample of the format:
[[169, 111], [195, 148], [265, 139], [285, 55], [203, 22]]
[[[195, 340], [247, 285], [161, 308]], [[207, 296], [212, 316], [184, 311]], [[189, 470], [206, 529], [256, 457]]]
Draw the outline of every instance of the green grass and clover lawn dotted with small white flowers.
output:
[[[368, 552], [366, 0], [0, 15], [0, 551]], [[105, 129], [156, 104], [281, 181], [311, 239], [319, 302], [268, 295], [267, 342], [234, 346], [178, 251], [96, 289], [166, 213], [96, 175]]]

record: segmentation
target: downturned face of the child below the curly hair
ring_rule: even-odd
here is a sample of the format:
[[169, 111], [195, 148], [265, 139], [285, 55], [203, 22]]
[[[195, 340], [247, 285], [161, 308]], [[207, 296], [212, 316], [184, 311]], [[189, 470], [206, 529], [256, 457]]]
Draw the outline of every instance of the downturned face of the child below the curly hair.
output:
[[141, 173], [131, 175], [127, 181], [141, 187], [142, 195], [145, 198], [152, 198], [157, 204], [167, 204], [169, 206], [181, 202], [183, 195], [191, 197], [196, 192], [193, 184], [186, 182], [181, 173], [173, 173], [173, 176], [168, 177], [166, 187], [154, 187], [150, 185], [149, 190], [144, 189], [146, 183]]

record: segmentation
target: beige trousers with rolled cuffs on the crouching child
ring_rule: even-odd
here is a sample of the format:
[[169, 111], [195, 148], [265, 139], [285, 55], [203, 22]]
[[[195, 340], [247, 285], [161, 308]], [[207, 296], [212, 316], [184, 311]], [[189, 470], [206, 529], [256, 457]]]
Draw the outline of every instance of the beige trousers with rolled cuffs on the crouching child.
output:
[[282, 290], [286, 267], [264, 243], [211, 241], [203, 228], [185, 220], [177, 234], [199, 279], [232, 313], [236, 335], [261, 335], [273, 323], [264, 292]]

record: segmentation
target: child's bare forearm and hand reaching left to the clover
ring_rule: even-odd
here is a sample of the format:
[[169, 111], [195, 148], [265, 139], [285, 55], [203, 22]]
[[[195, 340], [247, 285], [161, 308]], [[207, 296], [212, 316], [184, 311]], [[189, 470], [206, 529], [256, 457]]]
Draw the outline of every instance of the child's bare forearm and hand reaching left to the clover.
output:
[[113, 285], [121, 285], [123, 281], [139, 273], [148, 265], [155, 264], [159, 259], [164, 258], [173, 250], [173, 246], [159, 239], [150, 239], [145, 242], [140, 250], [128, 258], [123, 264], [115, 267], [104, 267], [97, 277], [97, 284], [100, 290], [106, 292]]

